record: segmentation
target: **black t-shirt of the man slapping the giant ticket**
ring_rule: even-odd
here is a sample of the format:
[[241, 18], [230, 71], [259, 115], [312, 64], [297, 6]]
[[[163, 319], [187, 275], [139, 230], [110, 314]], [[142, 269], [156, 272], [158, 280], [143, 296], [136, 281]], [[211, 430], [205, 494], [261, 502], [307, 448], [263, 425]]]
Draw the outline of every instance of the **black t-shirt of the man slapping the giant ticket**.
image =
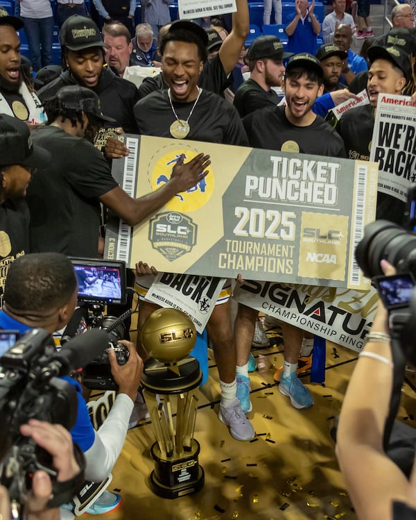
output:
[[95, 258], [101, 224], [99, 197], [118, 186], [102, 154], [87, 140], [55, 126], [36, 128], [33, 142], [51, 153], [28, 187], [31, 251]]

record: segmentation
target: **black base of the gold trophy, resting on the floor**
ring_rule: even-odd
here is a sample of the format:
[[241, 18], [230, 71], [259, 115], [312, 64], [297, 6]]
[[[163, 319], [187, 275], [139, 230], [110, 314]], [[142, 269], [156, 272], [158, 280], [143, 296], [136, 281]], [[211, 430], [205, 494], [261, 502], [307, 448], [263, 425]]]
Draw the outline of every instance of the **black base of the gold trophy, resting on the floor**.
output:
[[150, 474], [150, 489], [162, 498], [178, 498], [196, 493], [204, 485], [204, 470], [198, 464], [200, 445], [192, 440], [191, 450], [179, 458], [162, 455], [157, 442], [150, 449], [155, 469]]

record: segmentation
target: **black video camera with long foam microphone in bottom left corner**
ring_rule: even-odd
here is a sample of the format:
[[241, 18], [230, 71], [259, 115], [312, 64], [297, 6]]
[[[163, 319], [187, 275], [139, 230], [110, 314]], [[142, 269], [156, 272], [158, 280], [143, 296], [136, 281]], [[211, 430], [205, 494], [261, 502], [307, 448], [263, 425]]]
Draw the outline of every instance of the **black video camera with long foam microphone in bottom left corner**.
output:
[[[8, 335], [10, 332], [10, 335]], [[2, 331], [1, 340], [16, 331]], [[78, 400], [73, 385], [61, 378], [87, 364], [101, 354], [108, 342], [103, 330], [92, 330], [71, 339], [58, 353], [53, 337], [42, 328], [28, 331], [0, 358], [0, 483], [7, 487], [13, 518], [26, 503], [31, 489], [31, 476], [43, 469], [51, 476], [53, 498], [50, 507], [71, 500], [83, 472], [69, 483], [58, 483], [51, 455], [37, 446], [33, 439], [19, 431], [21, 424], [35, 418], [60, 423], [68, 430], [76, 422]], [[80, 467], [82, 452], [74, 445]]]

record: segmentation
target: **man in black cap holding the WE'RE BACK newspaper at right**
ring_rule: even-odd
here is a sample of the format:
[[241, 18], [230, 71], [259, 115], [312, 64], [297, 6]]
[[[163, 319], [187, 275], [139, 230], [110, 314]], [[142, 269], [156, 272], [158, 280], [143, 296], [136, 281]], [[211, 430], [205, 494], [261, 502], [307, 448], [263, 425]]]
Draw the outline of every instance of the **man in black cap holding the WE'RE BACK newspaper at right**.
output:
[[[350, 159], [369, 160], [374, 112], [379, 94], [413, 94], [414, 74], [411, 54], [402, 47], [373, 45], [368, 49], [370, 69], [367, 92], [369, 105], [352, 108], [343, 114], [336, 129], [343, 137], [345, 150]], [[379, 192], [377, 195], [376, 219], [386, 219], [404, 224], [406, 203], [394, 196]]]

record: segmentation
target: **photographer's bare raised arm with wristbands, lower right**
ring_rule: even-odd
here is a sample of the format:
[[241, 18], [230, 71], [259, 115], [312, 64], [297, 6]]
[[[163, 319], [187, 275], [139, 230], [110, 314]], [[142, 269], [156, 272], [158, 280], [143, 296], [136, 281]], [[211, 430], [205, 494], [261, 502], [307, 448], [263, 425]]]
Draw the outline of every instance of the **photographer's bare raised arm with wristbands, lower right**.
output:
[[[396, 272], [385, 260], [381, 268], [387, 276]], [[399, 500], [415, 507], [415, 497], [410, 500], [406, 476], [383, 449], [393, 365], [388, 312], [381, 301], [367, 339], [345, 393], [336, 455], [357, 517], [392, 520], [392, 502]]]

